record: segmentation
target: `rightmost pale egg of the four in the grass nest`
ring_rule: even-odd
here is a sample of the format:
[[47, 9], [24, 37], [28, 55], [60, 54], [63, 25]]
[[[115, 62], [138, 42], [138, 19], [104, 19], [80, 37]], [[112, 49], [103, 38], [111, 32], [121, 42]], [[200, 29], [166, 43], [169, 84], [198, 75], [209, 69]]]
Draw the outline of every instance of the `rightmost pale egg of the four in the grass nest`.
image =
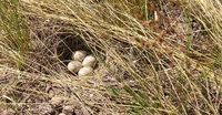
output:
[[84, 58], [84, 60], [82, 61], [82, 65], [83, 66], [94, 66], [97, 62], [97, 59], [93, 55], [88, 55]]

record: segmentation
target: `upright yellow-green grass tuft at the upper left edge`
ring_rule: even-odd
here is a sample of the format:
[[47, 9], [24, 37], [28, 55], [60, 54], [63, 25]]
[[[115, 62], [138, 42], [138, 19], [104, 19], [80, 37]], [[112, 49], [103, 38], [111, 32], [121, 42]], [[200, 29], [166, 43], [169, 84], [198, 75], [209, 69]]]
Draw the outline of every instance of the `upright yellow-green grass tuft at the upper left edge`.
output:
[[29, 30], [19, 0], [0, 1], [1, 53], [21, 69], [29, 50]]

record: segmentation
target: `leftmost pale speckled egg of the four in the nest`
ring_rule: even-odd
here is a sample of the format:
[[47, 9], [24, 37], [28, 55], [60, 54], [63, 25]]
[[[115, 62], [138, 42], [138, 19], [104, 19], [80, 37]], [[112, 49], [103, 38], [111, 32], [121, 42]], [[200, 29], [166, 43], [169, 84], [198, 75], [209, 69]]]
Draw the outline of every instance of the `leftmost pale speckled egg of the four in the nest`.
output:
[[77, 73], [82, 67], [82, 63], [79, 61], [71, 61], [68, 63], [67, 67], [70, 72]]

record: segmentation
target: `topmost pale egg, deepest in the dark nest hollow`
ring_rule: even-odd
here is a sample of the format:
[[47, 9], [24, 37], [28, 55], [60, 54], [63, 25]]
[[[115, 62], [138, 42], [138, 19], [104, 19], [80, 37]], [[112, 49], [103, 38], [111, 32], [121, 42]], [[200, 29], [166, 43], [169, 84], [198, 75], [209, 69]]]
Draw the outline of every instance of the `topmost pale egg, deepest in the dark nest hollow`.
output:
[[72, 54], [72, 60], [74, 60], [74, 61], [83, 61], [85, 56], [87, 56], [87, 52], [83, 51], [83, 50], [79, 50], [79, 51], [75, 51]]

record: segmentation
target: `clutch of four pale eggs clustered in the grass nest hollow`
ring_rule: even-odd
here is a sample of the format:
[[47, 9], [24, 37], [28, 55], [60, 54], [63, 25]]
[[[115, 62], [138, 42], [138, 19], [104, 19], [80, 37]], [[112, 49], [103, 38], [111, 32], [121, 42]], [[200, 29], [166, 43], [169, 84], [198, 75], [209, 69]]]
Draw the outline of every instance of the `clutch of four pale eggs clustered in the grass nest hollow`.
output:
[[93, 66], [97, 64], [97, 59], [93, 55], [87, 55], [83, 50], [73, 52], [72, 61], [68, 64], [68, 70], [78, 73], [79, 76], [85, 76], [93, 73]]

